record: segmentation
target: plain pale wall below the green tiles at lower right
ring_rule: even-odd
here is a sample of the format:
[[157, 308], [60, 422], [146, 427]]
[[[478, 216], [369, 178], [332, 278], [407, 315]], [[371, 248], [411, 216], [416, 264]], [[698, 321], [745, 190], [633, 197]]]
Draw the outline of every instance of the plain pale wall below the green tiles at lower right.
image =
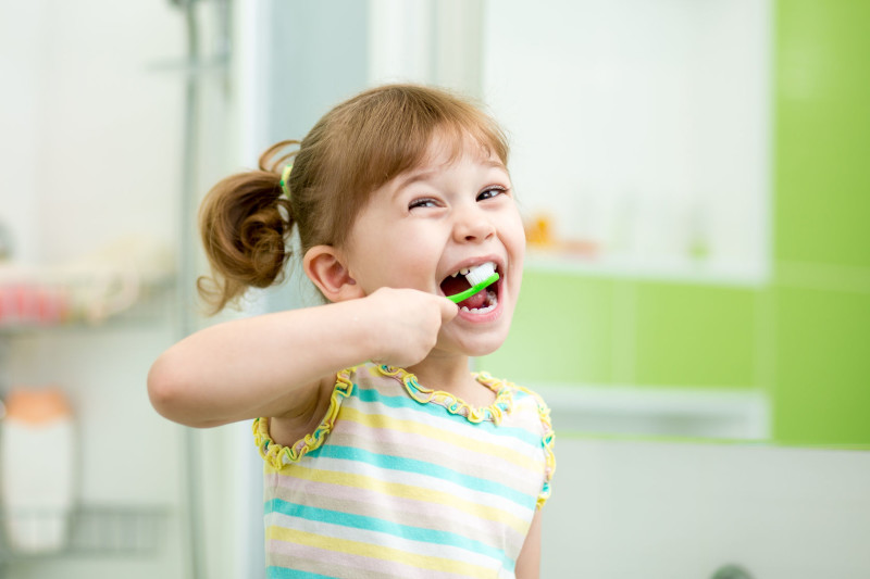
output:
[[870, 577], [870, 452], [557, 430], [556, 457], [542, 577]]

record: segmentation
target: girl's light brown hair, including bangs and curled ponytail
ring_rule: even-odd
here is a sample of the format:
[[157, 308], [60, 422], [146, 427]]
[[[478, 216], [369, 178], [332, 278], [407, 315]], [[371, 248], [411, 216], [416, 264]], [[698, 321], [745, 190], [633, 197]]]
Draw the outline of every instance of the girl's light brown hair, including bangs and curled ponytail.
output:
[[[217, 182], [199, 216], [212, 277], [198, 288], [212, 313], [248, 288], [283, 280], [294, 225], [302, 254], [341, 247], [372, 192], [419, 166], [435, 137], [450, 148], [450, 160], [472, 142], [508, 164], [505, 133], [471, 101], [439, 88], [387, 85], [332, 109], [301, 142], [273, 144], [259, 169]], [[290, 162], [287, 199], [279, 181]]]

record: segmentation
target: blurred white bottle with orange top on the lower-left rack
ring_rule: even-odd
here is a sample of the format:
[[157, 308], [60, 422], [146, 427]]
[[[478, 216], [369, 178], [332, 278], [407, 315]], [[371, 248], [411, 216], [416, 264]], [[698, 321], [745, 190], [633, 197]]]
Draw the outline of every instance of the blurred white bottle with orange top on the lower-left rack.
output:
[[13, 388], [0, 423], [0, 499], [9, 546], [64, 547], [74, 494], [73, 415], [58, 388]]

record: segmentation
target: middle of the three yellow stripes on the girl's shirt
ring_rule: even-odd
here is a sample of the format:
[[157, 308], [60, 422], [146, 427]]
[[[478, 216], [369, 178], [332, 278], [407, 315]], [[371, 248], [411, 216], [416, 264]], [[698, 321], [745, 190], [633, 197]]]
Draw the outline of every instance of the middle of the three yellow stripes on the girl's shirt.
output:
[[[266, 474], [275, 473], [270, 467]], [[270, 471], [271, 470], [271, 471]], [[523, 520], [512, 514], [496, 508], [494, 506], [480, 505], [471, 501], [464, 501], [458, 496], [432, 489], [421, 487], [413, 487], [411, 484], [401, 484], [399, 482], [387, 482], [374, 477], [366, 477], [363, 475], [352, 475], [349, 473], [339, 473], [336, 470], [322, 470], [315, 468], [308, 468], [295, 465], [290, 469], [283, 469], [282, 476], [290, 476], [302, 480], [311, 480], [315, 482], [326, 482], [330, 484], [338, 484], [341, 487], [350, 487], [352, 489], [369, 489], [377, 490], [381, 494], [388, 496], [397, 496], [399, 499], [410, 499], [423, 503], [432, 503], [436, 505], [453, 506], [460, 511], [477, 513], [477, 518], [490, 520], [505, 525], [517, 531], [520, 536], [524, 536], [529, 530], [529, 521]]]

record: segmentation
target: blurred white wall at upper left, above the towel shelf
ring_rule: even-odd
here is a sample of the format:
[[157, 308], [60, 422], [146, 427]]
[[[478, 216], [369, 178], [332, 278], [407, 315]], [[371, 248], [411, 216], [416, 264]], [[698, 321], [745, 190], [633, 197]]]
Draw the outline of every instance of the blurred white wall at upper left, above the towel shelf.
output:
[[175, 234], [184, 50], [167, 2], [0, 4], [0, 219], [28, 261]]

